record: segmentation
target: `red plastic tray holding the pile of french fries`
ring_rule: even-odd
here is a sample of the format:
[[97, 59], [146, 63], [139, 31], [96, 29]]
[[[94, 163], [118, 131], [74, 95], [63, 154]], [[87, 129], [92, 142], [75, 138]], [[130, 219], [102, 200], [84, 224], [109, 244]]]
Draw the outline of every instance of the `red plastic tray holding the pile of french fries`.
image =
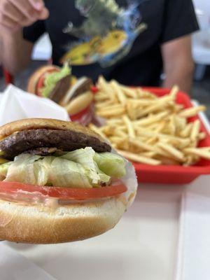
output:
[[[170, 90], [156, 87], [145, 87], [161, 97], [165, 94], [169, 94]], [[183, 104], [185, 108], [190, 108], [193, 104], [190, 101], [190, 97], [184, 92], [179, 92], [177, 94], [176, 102], [178, 104]], [[200, 119], [199, 116], [190, 118], [189, 121], [192, 122], [196, 119]], [[202, 120], [200, 119], [201, 123]], [[210, 134], [207, 131], [204, 124], [201, 125], [202, 132], [207, 133], [206, 139], [200, 141], [200, 147], [210, 146]], [[194, 181], [198, 176], [202, 174], [210, 174], [210, 160], [200, 160], [197, 165], [190, 167], [176, 166], [176, 165], [143, 165], [139, 163], [134, 163], [134, 167], [137, 172], [137, 178], [140, 183], [164, 183], [164, 184], [185, 184]]]

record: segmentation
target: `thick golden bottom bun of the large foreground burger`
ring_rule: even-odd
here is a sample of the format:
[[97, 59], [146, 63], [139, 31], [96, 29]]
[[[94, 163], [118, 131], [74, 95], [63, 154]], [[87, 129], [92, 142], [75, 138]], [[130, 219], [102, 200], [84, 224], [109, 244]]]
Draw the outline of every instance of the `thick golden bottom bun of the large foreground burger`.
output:
[[83, 240], [113, 228], [125, 209], [120, 197], [56, 208], [0, 200], [0, 239], [32, 244]]

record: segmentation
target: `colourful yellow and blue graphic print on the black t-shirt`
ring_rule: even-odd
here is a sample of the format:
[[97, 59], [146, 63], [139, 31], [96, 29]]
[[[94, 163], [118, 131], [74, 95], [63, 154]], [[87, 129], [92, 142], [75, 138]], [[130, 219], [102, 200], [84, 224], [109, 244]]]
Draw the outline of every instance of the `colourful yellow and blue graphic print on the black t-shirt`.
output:
[[79, 27], [69, 22], [64, 33], [78, 38], [66, 49], [61, 62], [72, 65], [98, 62], [111, 66], [125, 57], [139, 34], [146, 29], [141, 22], [139, 4], [142, 0], [127, 0], [127, 8], [115, 0], [76, 0], [75, 6], [85, 20]]

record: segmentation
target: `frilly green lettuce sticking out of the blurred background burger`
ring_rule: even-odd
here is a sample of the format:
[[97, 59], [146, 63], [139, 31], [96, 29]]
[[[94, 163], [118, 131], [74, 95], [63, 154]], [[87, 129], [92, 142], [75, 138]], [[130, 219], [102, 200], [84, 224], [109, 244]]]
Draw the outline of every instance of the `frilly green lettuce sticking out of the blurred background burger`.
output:
[[65, 63], [59, 72], [48, 73], [44, 80], [44, 87], [41, 89], [41, 95], [49, 97], [57, 82], [69, 74], [71, 74], [71, 68], [68, 63]]

